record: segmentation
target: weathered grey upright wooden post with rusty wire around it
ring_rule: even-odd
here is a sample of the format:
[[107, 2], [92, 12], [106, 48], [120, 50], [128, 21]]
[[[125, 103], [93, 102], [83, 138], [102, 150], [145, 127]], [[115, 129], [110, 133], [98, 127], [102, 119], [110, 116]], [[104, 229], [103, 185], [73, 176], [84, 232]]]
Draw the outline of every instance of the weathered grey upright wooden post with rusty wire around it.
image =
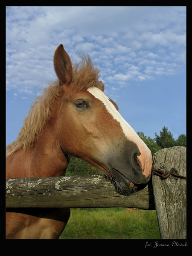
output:
[[[153, 168], [175, 168], [186, 177], [186, 147], [163, 148], [153, 156]], [[154, 203], [161, 239], [186, 239], [186, 179], [152, 177]]]

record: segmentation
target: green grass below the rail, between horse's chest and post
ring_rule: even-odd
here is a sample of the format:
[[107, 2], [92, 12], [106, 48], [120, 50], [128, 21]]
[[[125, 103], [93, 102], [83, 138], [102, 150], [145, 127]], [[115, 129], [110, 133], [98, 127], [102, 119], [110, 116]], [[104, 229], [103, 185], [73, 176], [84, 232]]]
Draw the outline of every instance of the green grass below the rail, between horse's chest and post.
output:
[[155, 211], [76, 208], [60, 239], [160, 239]]

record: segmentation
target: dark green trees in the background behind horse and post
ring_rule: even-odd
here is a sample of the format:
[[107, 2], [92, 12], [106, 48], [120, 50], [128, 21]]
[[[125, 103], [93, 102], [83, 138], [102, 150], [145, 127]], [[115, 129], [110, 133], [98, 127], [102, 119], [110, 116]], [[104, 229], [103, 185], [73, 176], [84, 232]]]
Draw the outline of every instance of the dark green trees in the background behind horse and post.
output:
[[[146, 137], [143, 132], [137, 132], [139, 137], [145, 142], [148, 148], [151, 150], [151, 154], [154, 155], [155, 152], [159, 151], [162, 148], [172, 148], [174, 146], [184, 146], [186, 147], [186, 135], [180, 134], [180, 136], [175, 140], [167, 127], [163, 127], [160, 131], [160, 135], [155, 133], [155, 138], [151, 139]], [[72, 175], [103, 175], [104, 173], [97, 169], [94, 166], [91, 166], [89, 163], [86, 163], [84, 160], [72, 157], [70, 163], [67, 167], [67, 176]]]

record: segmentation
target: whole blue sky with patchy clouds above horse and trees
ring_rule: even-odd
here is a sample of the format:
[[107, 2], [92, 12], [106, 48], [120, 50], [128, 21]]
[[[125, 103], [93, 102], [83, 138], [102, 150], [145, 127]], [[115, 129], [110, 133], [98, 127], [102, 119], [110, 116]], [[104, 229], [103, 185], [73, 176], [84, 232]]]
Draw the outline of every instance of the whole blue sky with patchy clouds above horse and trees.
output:
[[6, 145], [32, 101], [57, 79], [59, 44], [90, 55], [105, 93], [136, 132], [186, 134], [185, 6], [7, 6]]

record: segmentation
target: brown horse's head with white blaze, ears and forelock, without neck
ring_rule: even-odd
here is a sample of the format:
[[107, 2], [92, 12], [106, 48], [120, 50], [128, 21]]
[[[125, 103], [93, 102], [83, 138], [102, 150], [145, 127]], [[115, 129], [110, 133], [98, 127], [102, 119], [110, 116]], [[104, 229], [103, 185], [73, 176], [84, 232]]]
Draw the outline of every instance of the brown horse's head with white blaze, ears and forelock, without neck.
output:
[[[120, 188], [147, 183], [151, 151], [122, 118], [117, 105], [105, 95], [96, 69], [79, 75], [60, 45], [54, 55], [61, 87], [56, 136], [62, 150], [102, 169]], [[94, 77], [94, 78], [93, 78]]]

